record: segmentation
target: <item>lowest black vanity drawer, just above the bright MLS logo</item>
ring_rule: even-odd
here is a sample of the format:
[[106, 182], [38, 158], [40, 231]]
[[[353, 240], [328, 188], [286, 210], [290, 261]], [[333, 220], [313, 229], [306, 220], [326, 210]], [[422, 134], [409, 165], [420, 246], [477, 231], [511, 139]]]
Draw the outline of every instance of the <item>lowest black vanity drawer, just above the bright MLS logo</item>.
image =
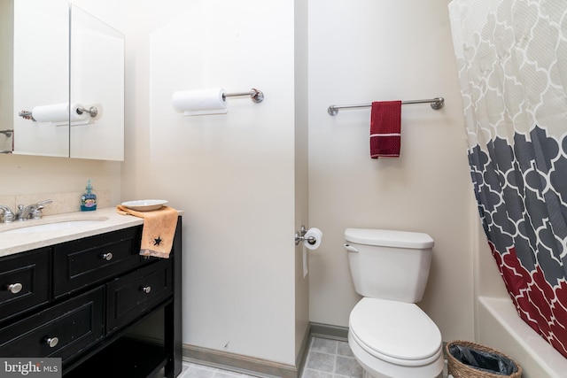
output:
[[65, 359], [104, 336], [104, 287], [0, 328], [2, 357]]

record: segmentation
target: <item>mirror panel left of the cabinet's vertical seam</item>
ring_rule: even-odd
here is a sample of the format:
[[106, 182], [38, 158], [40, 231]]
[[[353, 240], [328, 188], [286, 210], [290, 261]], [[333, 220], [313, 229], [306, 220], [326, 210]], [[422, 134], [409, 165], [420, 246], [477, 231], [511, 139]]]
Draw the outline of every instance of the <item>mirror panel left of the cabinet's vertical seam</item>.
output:
[[35, 122], [18, 114], [68, 101], [69, 5], [63, 0], [12, 3], [13, 153], [67, 157], [68, 123]]

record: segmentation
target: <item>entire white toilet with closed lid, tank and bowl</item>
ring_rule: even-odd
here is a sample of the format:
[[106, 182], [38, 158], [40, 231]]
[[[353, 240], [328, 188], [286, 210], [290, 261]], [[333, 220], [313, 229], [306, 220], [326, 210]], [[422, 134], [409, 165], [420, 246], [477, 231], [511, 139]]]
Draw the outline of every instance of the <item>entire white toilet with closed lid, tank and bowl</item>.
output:
[[354, 289], [348, 343], [364, 378], [434, 378], [443, 365], [441, 333], [416, 302], [429, 277], [430, 235], [347, 228]]

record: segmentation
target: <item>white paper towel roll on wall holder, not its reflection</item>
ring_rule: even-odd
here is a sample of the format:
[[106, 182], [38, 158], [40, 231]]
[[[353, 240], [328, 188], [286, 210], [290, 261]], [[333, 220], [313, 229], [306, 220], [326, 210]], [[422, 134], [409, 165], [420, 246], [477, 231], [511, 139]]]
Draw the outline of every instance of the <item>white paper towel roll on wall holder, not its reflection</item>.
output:
[[174, 109], [183, 115], [224, 114], [227, 112], [227, 100], [224, 89], [183, 90], [172, 97]]

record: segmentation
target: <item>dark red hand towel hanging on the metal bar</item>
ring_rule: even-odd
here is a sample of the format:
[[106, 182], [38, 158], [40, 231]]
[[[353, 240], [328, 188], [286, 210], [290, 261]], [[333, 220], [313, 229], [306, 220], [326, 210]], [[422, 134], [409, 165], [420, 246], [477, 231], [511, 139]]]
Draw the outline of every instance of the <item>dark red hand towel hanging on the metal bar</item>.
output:
[[400, 157], [401, 101], [372, 103], [370, 158]]

